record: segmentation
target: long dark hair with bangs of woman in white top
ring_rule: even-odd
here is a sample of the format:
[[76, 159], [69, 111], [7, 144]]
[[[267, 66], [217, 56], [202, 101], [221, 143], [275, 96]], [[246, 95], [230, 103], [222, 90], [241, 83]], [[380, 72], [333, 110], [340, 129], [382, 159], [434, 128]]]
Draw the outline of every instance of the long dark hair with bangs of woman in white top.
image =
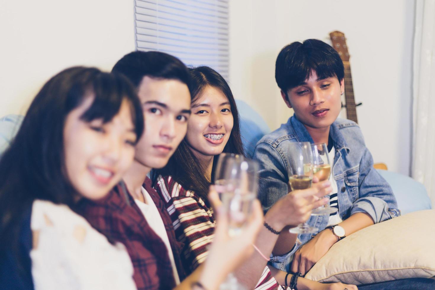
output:
[[68, 113], [90, 94], [94, 101], [80, 117], [82, 120], [109, 122], [120, 110], [122, 101], [127, 100], [137, 140], [141, 137], [144, 129], [141, 105], [126, 77], [103, 73], [97, 68], [71, 67], [45, 83], [0, 160], [0, 260], [10, 247], [19, 253], [20, 223], [33, 200], [49, 200], [74, 208], [77, 191], [65, 167], [64, 125]]

